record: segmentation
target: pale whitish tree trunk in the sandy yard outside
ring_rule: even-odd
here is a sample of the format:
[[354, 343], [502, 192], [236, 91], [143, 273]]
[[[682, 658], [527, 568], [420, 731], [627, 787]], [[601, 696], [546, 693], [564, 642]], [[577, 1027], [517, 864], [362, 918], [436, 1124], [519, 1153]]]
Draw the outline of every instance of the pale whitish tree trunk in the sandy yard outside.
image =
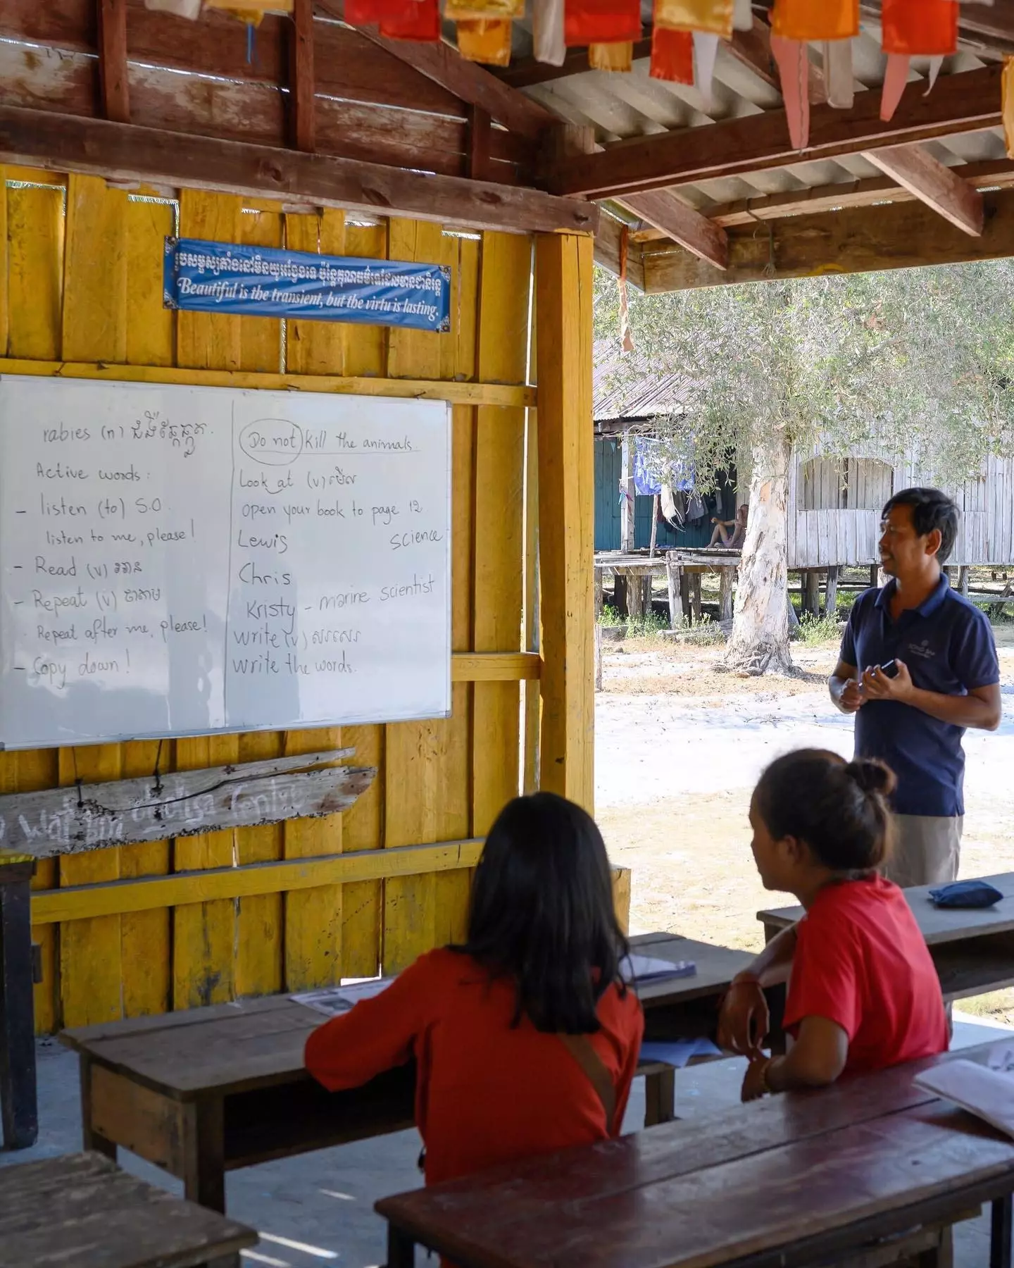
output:
[[753, 449], [750, 510], [728, 668], [750, 676], [790, 673], [787, 514], [788, 444], [778, 434]]

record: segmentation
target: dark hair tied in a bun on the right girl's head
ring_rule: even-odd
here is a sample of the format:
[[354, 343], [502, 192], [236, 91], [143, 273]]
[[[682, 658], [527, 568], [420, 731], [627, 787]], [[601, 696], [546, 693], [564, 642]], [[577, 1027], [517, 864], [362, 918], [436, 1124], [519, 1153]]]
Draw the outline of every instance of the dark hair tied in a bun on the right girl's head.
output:
[[768, 766], [754, 805], [776, 841], [805, 841], [833, 871], [871, 871], [891, 850], [887, 798], [896, 782], [875, 758], [847, 762], [823, 748], [800, 748]]

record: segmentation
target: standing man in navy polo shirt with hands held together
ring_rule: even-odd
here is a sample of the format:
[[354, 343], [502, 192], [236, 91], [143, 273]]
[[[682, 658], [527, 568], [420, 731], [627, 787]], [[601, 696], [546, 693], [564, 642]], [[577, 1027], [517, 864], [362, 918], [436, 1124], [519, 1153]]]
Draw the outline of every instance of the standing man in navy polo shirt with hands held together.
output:
[[[939, 489], [908, 488], [887, 502], [880, 557], [891, 579], [856, 600], [828, 683], [842, 713], [856, 714], [856, 757], [880, 757], [897, 776], [897, 838], [886, 872], [899, 885], [957, 876], [961, 741], [968, 727], [1000, 725], [990, 623], [940, 571], [957, 527], [957, 507]], [[894, 677], [882, 668], [890, 662]]]

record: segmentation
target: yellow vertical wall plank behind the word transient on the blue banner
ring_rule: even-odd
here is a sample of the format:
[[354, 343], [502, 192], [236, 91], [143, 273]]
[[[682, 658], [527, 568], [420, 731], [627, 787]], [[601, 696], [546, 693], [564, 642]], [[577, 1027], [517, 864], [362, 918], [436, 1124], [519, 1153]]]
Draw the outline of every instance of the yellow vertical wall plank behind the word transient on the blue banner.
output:
[[[295, 251], [343, 255], [345, 214], [326, 210], [319, 216], [288, 216], [285, 242]], [[288, 368], [293, 374], [342, 374], [345, 365], [345, 326], [340, 322], [290, 321], [288, 323]], [[338, 748], [342, 734], [337, 728], [290, 730], [284, 752], [313, 753]], [[294, 819], [283, 829], [285, 858], [337, 855], [342, 850], [342, 817]], [[321, 885], [295, 890], [284, 898], [284, 984], [286, 990], [309, 990], [341, 980], [342, 886]], [[375, 959], [375, 956], [374, 956]], [[360, 974], [346, 974], [360, 976]], [[366, 974], [363, 974], [366, 976]]]

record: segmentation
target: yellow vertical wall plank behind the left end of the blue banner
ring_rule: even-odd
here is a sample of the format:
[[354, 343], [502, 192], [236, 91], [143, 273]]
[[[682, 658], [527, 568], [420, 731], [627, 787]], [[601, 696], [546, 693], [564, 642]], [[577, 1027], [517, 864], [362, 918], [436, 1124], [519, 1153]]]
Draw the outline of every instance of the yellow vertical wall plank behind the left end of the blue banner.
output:
[[[180, 191], [180, 233], [184, 237], [238, 242], [241, 203], [229, 194]], [[238, 369], [242, 356], [241, 318], [219, 313], [176, 314], [176, 358], [183, 368]], [[181, 771], [226, 766], [240, 760], [237, 735], [198, 737], [176, 742]], [[174, 871], [232, 867], [232, 832], [186, 837], [172, 846]], [[231, 899], [188, 903], [172, 915], [172, 1007], [218, 1004], [236, 994], [236, 904]]]

